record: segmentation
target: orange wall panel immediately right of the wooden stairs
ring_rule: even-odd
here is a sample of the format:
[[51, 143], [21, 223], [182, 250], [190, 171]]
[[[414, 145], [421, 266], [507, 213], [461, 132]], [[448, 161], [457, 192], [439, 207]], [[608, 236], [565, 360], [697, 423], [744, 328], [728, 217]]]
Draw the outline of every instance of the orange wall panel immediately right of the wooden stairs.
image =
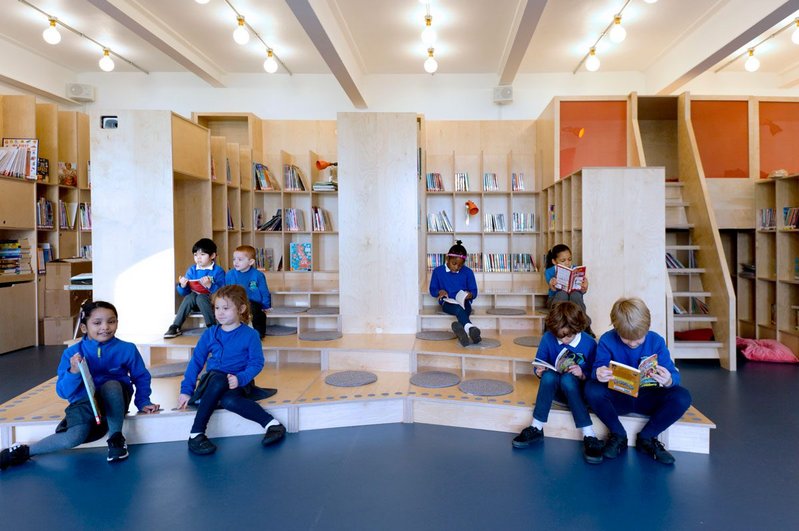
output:
[[749, 177], [746, 101], [691, 101], [691, 122], [705, 177]]

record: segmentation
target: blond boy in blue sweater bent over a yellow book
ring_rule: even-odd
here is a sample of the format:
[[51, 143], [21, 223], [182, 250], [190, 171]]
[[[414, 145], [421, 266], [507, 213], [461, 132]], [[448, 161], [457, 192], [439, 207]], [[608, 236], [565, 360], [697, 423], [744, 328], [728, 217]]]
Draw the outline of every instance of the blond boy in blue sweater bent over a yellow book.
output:
[[[680, 386], [680, 373], [674, 366], [664, 339], [649, 330], [651, 316], [644, 301], [619, 299], [610, 311], [613, 330], [604, 334], [597, 346], [593, 379], [585, 386], [585, 398], [610, 434], [603, 455], [617, 457], [627, 448], [627, 433], [620, 415], [648, 415], [636, 439], [635, 447], [654, 460], [670, 465], [672, 456], [658, 440], [658, 435], [677, 422], [691, 406], [691, 394]], [[608, 382], [614, 378], [611, 361], [638, 367], [642, 360], [656, 355], [656, 364], [649, 364], [641, 375], [638, 396], [614, 391]], [[655, 366], [652, 366], [655, 365]]]

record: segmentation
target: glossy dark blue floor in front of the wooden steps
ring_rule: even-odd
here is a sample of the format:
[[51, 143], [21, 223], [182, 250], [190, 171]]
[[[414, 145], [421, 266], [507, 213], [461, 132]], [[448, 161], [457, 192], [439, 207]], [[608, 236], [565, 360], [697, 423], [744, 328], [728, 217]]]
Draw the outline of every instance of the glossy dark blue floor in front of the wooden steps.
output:
[[[0, 401], [9, 398], [9, 356], [26, 355], [34, 354], [0, 356]], [[38, 456], [0, 473], [0, 522], [14, 530], [798, 529], [799, 366], [679, 365], [718, 429], [710, 455], [676, 453], [673, 467], [634, 449], [591, 466], [576, 441], [514, 450], [512, 434], [482, 430], [315, 430], [273, 448], [258, 437], [217, 439], [210, 457], [183, 442], [133, 446], [116, 465], [104, 449]]]

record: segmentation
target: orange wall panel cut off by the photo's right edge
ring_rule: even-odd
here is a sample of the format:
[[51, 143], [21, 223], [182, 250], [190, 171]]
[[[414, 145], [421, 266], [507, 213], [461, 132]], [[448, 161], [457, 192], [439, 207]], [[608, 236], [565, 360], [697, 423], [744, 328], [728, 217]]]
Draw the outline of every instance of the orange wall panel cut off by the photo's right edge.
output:
[[760, 177], [799, 173], [799, 102], [760, 102]]

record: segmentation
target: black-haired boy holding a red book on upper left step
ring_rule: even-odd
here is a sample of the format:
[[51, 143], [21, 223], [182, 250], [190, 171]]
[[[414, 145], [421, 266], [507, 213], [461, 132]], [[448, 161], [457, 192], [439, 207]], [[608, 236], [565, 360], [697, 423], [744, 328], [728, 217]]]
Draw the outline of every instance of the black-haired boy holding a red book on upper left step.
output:
[[216, 323], [211, 295], [225, 285], [225, 270], [216, 265], [216, 244], [210, 238], [197, 240], [191, 252], [194, 254], [194, 265], [189, 266], [186, 274], [178, 278], [177, 290], [183, 296], [178, 313], [164, 338], [177, 337], [183, 332], [180, 327], [195, 308], [200, 310], [205, 319], [205, 326]]

